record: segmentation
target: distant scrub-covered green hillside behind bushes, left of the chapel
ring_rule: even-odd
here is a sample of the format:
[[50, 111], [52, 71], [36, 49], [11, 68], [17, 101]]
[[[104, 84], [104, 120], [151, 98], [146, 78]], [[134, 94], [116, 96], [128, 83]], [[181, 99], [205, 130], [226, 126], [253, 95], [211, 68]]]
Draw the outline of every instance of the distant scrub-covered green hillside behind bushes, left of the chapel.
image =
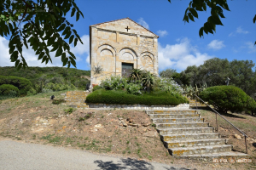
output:
[[[65, 67], [29, 67], [25, 70], [17, 70], [15, 67], [0, 67], [1, 76], [23, 77], [32, 82], [33, 88], [38, 91], [38, 85], [45, 86], [47, 83], [73, 84], [76, 88], [84, 89], [90, 80], [90, 71], [82, 71]], [[44, 88], [44, 87], [43, 87]], [[40, 91], [40, 90], [39, 90]], [[39, 92], [38, 91], [38, 92]]]

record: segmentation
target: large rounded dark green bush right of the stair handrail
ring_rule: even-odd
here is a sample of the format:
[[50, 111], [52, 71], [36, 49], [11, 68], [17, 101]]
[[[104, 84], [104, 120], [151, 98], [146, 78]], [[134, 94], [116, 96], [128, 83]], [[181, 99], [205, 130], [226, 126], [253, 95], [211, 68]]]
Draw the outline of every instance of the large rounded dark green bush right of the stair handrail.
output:
[[201, 92], [199, 97], [208, 101], [218, 111], [253, 111], [256, 102], [241, 88], [235, 86], [214, 86]]

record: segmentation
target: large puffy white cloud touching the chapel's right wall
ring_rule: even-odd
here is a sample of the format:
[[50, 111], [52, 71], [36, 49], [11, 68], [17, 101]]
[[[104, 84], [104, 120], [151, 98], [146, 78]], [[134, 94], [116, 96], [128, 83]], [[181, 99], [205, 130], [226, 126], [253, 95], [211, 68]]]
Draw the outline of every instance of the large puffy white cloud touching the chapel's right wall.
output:
[[174, 45], [167, 44], [162, 47], [159, 43], [159, 68], [166, 68], [183, 71], [189, 65], [202, 65], [205, 60], [211, 59], [213, 56], [201, 54], [195, 46], [192, 46], [188, 38], [177, 40]]

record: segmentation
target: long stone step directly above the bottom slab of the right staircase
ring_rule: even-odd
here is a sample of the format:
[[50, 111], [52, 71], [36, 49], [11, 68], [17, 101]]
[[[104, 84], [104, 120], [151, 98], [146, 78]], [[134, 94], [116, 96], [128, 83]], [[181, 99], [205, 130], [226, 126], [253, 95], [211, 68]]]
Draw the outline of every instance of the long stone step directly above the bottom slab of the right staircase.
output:
[[193, 147], [177, 147], [168, 149], [172, 156], [188, 156], [188, 155], [201, 155], [201, 154], [212, 154], [219, 152], [226, 152], [232, 150], [232, 145], [219, 144], [219, 145], [208, 145], [208, 146], [193, 146]]

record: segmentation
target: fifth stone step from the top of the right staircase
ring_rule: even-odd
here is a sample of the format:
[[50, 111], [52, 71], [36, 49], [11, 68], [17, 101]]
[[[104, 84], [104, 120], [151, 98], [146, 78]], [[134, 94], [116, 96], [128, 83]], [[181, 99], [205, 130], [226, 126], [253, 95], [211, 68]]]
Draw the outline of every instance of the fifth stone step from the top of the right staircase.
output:
[[160, 135], [183, 133], [212, 133], [213, 127], [183, 127], [183, 128], [158, 128]]

